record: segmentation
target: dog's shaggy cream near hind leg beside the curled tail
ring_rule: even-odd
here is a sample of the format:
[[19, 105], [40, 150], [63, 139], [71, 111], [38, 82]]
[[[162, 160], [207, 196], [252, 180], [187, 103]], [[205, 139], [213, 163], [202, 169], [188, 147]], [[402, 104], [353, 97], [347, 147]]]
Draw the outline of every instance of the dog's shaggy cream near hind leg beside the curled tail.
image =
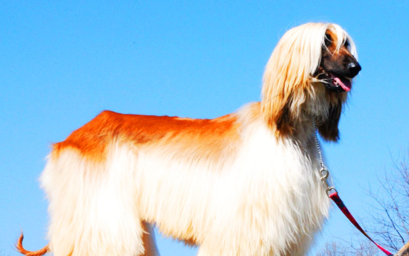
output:
[[50, 200], [54, 255], [155, 253], [150, 227], [139, 218], [133, 161], [119, 147], [97, 163], [71, 149], [50, 157], [41, 183]]

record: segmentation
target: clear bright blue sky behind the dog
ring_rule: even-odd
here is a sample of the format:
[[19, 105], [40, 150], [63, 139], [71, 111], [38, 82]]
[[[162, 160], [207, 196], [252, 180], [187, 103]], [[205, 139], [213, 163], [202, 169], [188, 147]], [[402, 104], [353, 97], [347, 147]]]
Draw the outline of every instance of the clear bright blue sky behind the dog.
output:
[[[260, 98], [264, 66], [293, 26], [326, 21], [354, 38], [362, 71], [323, 143], [335, 186], [358, 219], [377, 176], [409, 146], [407, 1], [0, 1], [0, 255], [24, 230], [39, 249], [50, 144], [102, 110], [213, 118]], [[352, 227], [331, 211], [310, 255]], [[157, 236], [161, 255], [195, 255]]]

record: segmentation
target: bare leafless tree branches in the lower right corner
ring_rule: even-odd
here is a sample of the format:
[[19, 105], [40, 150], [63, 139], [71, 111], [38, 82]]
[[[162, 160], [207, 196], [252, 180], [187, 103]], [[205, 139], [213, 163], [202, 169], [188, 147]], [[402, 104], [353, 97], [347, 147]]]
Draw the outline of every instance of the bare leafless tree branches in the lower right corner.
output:
[[[409, 256], [409, 148], [398, 159], [392, 157], [393, 167], [386, 171], [383, 178], [378, 177], [379, 186], [376, 191], [369, 188], [368, 195], [374, 200], [368, 211], [370, 228], [364, 229], [370, 233], [382, 247], [391, 251], [399, 251], [399, 256]], [[375, 256], [378, 248], [365, 240], [351, 236], [351, 242], [341, 241], [326, 244], [317, 256], [355, 255]], [[354, 237], [355, 239], [352, 239]], [[340, 240], [340, 239], [339, 239]], [[406, 242], [406, 245], [404, 245]], [[403, 247], [402, 247], [403, 246]]]

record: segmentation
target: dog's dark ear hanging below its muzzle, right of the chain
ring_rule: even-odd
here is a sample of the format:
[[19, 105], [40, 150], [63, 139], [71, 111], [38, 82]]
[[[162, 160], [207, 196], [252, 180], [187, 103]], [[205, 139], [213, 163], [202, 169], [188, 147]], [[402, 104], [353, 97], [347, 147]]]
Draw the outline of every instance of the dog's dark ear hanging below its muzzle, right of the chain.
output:
[[339, 101], [337, 104], [330, 107], [328, 112], [328, 118], [321, 125], [318, 126], [318, 131], [327, 141], [338, 141], [339, 131], [338, 122], [342, 112], [342, 103]]

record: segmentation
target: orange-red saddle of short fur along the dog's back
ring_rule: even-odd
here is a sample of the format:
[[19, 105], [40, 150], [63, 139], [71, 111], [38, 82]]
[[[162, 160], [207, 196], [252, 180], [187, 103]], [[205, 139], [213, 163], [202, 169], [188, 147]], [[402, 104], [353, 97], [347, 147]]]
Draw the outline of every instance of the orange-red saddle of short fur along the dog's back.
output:
[[[169, 116], [119, 114], [104, 111], [65, 141], [55, 143], [53, 157], [65, 148], [74, 148], [96, 162], [103, 161], [110, 142], [131, 143], [137, 147], [170, 144], [180, 154], [215, 157], [226, 150], [226, 143], [239, 138], [237, 117], [191, 119]], [[227, 148], [227, 150], [230, 150]]]

